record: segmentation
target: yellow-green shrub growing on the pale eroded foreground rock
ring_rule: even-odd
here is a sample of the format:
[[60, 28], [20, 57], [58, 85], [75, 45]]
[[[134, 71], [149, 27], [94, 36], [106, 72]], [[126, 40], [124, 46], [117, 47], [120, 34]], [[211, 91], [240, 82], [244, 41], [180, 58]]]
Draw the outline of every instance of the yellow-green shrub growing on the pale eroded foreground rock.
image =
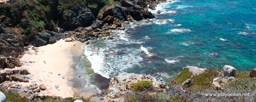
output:
[[141, 82], [136, 82], [131, 85], [132, 91], [142, 91], [147, 88], [150, 88], [152, 85], [151, 81], [141, 81]]

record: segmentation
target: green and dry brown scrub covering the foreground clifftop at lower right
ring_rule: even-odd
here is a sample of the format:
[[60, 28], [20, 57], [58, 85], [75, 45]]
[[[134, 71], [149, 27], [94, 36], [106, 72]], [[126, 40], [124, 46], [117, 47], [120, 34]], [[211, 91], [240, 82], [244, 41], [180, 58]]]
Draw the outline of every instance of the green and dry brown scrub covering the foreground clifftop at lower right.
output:
[[[157, 102], [190, 102], [190, 101], [255, 101], [256, 78], [248, 77], [249, 72], [236, 72], [236, 80], [230, 80], [221, 90], [212, 88], [212, 80], [222, 70], [206, 70], [201, 74], [193, 75], [189, 68], [184, 68], [177, 77], [166, 83], [168, 87], [133, 91], [126, 94], [128, 102], [157, 101]], [[189, 87], [182, 86], [182, 80], [192, 78], [194, 82]], [[175, 84], [173, 84], [175, 83]], [[205, 94], [220, 93], [250, 93], [252, 96], [206, 96]]]

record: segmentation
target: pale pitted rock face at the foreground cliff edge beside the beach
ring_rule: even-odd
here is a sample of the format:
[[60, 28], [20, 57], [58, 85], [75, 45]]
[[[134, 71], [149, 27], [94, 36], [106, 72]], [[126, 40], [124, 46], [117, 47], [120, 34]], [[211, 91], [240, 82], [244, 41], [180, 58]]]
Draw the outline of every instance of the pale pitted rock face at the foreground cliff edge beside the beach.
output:
[[164, 81], [157, 81], [156, 78], [145, 75], [138, 75], [134, 73], [120, 73], [110, 80], [108, 95], [104, 99], [104, 102], [122, 102], [124, 101], [123, 95], [127, 92], [131, 92], [131, 85], [135, 82], [151, 81], [152, 87], [160, 88], [165, 87]]

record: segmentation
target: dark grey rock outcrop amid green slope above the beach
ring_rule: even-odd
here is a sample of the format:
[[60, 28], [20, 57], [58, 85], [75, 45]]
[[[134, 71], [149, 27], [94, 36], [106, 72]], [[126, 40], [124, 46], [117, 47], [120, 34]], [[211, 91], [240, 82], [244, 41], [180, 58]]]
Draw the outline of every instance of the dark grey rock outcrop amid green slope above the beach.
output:
[[74, 30], [77, 27], [86, 27], [95, 20], [92, 11], [87, 7], [73, 7], [70, 10], [60, 8], [59, 27], [65, 30]]

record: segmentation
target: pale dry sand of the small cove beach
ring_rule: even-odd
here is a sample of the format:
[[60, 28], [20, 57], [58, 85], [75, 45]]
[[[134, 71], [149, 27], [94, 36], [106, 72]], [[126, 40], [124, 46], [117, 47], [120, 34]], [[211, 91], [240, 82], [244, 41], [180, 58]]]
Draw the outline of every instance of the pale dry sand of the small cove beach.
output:
[[[30, 47], [21, 58], [24, 64], [21, 68], [28, 69], [33, 78], [27, 83], [19, 82], [19, 84], [22, 86], [45, 85], [47, 89], [39, 92], [39, 96], [73, 97], [75, 89], [69, 81], [74, 73], [71, 67], [72, 56], [81, 53], [82, 45], [84, 44], [79, 41], [65, 42], [61, 39], [54, 44], [38, 47], [39, 52], [35, 52]], [[62, 79], [63, 76], [65, 79]], [[55, 85], [59, 85], [59, 88], [56, 89]]]

